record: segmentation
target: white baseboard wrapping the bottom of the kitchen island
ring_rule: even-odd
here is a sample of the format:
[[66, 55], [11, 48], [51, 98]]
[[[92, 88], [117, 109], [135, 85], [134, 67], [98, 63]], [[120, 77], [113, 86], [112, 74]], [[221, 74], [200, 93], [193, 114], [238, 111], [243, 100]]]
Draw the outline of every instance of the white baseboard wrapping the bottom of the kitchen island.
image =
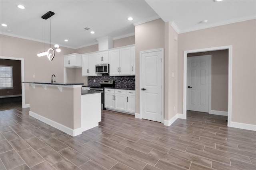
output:
[[59, 129], [60, 131], [63, 131], [65, 133], [68, 133], [68, 135], [71, 135], [71, 136], [76, 136], [76, 135], [80, 135], [82, 134], [82, 129], [81, 128], [77, 128], [77, 129], [71, 129], [69, 127], [66, 127], [56, 121], [52, 121], [46, 117], [43, 117], [41, 115], [38, 115], [32, 111], [29, 111], [29, 115], [44, 122], [44, 123], [47, 123], [48, 125], [51, 125], [52, 127], [55, 127], [56, 129]]

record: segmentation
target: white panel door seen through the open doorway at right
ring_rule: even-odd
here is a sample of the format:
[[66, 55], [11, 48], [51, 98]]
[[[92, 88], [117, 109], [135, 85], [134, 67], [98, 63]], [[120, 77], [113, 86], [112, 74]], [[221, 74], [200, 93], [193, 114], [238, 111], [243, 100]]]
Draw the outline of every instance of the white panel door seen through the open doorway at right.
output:
[[187, 59], [187, 110], [209, 112], [211, 55]]

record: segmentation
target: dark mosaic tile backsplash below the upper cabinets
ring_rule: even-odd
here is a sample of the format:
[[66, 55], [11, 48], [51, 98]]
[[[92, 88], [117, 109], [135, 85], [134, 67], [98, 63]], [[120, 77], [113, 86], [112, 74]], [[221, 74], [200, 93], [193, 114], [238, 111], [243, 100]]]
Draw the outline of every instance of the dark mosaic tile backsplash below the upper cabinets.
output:
[[114, 80], [116, 88], [135, 89], [135, 76], [109, 76], [109, 74], [88, 77], [88, 86], [100, 86], [100, 80]]

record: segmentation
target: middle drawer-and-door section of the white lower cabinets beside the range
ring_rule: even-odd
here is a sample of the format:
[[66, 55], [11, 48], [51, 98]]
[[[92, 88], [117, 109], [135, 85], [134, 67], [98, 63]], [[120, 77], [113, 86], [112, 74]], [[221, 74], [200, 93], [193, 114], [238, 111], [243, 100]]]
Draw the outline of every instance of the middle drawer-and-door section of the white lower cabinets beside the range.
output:
[[126, 111], [126, 90], [115, 89], [115, 109]]

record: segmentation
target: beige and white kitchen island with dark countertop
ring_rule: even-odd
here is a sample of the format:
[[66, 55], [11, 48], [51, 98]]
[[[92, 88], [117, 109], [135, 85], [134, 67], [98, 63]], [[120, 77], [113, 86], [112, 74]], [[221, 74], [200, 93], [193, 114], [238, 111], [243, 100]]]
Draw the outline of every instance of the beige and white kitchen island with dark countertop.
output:
[[83, 83], [22, 83], [30, 84], [29, 115], [48, 125], [76, 136], [101, 121], [101, 93]]

